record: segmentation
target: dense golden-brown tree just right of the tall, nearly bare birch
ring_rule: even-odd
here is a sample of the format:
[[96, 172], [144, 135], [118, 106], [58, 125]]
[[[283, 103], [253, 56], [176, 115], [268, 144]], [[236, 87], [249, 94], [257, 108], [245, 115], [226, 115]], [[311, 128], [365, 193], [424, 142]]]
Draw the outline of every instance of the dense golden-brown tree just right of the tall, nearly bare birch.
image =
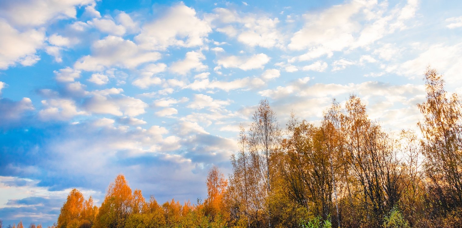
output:
[[322, 128], [306, 120], [288, 124], [291, 135], [285, 141], [289, 196], [310, 210], [314, 216], [327, 219], [332, 207], [332, 170]]

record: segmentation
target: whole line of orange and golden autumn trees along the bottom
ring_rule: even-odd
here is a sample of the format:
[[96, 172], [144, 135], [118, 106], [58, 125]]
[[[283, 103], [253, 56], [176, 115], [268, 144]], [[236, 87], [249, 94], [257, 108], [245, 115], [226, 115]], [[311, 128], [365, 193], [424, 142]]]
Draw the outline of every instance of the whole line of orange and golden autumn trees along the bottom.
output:
[[462, 103], [436, 69], [424, 80], [419, 133], [384, 131], [355, 95], [318, 126], [292, 113], [280, 129], [263, 99], [228, 179], [209, 171], [204, 202], [146, 201], [121, 174], [99, 208], [72, 190], [55, 227], [461, 227]]

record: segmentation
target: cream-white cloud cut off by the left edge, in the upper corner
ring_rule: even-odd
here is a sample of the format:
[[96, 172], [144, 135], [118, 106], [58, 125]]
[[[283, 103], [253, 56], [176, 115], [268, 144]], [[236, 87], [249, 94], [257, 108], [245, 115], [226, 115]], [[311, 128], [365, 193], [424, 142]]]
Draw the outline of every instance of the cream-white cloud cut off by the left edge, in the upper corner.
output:
[[20, 32], [0, 18], [0, 31], [0, 69], [7, 69], [16, 63], [31, 66], [40, 60], [36, 50], [45, 41], [43, 29]]

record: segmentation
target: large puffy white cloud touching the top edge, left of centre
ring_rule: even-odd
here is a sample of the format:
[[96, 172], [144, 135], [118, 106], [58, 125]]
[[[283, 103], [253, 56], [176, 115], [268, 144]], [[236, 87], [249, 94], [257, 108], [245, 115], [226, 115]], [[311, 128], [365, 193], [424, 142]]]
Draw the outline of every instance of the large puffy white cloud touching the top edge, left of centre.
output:
[[196, 17], [194, 9], [179, 3], [162, 18], [146, 23], [135, 41], [143, 48], [164, 50], [169, 46], [195, 47], [204, 43], [212, 29]]

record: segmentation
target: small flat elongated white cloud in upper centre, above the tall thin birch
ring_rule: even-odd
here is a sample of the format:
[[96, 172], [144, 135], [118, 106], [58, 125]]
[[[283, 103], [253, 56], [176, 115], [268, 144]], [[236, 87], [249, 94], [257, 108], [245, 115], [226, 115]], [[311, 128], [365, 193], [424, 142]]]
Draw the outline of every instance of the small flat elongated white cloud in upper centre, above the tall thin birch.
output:
[[224, 58], [220, 58], [219, 60], [217, 60], [217, 64], [219, 66], [223, 66], [224, 68], [240, 68], [242, 70], [251, 70], [264, 68], [265, 64], [267, 64], [269, 60], [270, 57], [263, 53], [255, 54], [247, 58], [231, 55]]

